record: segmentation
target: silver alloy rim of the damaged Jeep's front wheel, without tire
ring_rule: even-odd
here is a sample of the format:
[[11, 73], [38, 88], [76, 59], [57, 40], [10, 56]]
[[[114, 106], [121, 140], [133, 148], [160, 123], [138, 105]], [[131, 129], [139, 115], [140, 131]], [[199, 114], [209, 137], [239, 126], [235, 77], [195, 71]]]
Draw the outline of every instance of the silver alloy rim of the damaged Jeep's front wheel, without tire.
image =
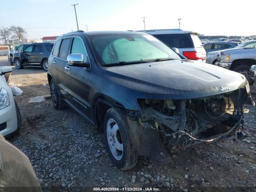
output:
[[116, 160], [122, 159], [124, 150], [122, 136], [118, 124], [112, 118], [110, 118], [107, 122], [106, 134], [110, 152]]

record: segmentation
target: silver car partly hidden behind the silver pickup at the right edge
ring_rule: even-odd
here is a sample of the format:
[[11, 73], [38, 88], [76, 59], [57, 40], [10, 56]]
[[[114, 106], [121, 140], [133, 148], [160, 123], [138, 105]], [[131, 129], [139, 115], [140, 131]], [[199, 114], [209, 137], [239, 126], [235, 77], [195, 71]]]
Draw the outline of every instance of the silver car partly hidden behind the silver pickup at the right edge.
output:
[[[242, 42], [241, 44], [239, 44], [238, 46], [236, 46], [232, 49], [252, 48], [253, 46], [256, 46], [256, 40]], [[218, 56], [219, 52], [220, 52], [220, 50], [209, 52], [206, 56], [206, 63], [215, 64], [217, 62], [217, 56]]]

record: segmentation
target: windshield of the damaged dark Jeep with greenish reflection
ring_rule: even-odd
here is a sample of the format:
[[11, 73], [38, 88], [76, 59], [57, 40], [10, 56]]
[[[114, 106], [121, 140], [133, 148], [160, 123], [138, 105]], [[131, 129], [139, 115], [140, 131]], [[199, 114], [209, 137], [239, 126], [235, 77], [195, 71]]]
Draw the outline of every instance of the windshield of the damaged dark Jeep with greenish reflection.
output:
[[102, 66], [181, 59], [171, 48], [148, 34], [92, 36], [89, 41]]

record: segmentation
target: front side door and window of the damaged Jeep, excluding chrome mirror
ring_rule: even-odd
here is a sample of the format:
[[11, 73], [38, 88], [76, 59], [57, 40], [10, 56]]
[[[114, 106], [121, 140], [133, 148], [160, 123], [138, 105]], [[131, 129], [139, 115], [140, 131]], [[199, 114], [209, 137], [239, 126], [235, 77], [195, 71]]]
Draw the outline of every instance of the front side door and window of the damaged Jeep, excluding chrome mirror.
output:
[[[75, 36], [72, 39], [70, 54], [80, 53], [84, 56], [84, 62], [89, 62], [86, 47], [82, 38]], [[90, 87], [88, 78], [90, 76], [90, 68], [68, 66], [67, 76], [67, 100], [74, 105], [88, 120], [90, 116], [90, 104], [88, 96]]]

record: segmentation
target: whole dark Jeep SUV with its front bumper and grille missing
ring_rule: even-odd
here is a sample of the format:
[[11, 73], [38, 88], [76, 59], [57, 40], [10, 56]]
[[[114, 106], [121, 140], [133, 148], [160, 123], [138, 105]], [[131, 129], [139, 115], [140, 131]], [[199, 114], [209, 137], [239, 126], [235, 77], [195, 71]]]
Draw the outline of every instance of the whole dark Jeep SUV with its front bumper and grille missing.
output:
[[70, 106], [100, 132], [121, 170], [138, 156], [158, 163], [171, 153], [228, 138], [241, 130], [244, 103], [254, 105], [246, 78], [181, 59], [140, 32], [71, 32], [48, 58], [53, 106]]

